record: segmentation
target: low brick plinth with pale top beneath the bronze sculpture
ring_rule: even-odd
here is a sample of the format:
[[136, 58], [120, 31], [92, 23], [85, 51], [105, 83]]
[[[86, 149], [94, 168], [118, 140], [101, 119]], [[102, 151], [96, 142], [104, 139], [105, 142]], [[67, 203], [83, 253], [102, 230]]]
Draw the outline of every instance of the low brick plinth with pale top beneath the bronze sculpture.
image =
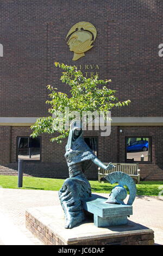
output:
[[154, 231], [128, 221], [126, 225], [97, 228], [87, 219], [72, 229], [65, 229], [60, 205], [30, 208], [26, 226], [45, 245], [153, 245]]

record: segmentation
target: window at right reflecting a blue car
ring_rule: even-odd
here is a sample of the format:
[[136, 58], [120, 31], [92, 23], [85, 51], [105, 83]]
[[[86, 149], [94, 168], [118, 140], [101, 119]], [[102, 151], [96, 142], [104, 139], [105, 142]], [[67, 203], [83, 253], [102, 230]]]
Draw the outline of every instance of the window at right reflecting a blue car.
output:
[[126, 137], [126, 161], [152, 162], [152, 138]]

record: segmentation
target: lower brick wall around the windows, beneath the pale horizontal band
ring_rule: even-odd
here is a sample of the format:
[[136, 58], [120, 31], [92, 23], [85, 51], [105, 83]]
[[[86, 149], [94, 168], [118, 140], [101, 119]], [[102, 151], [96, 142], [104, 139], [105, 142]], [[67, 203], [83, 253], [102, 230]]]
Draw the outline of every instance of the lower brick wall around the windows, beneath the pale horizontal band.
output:
[[[3, 128], [3, 129], [2, 129]], [[123, 130], [120, 133], [120, 129]], [[29, 136], [30, 127], [25, 126], [1, 126], [0, 136], [3, 141], [1, 163], [12, 168], [17, 168], [16, 163], [16, 137]], [[85, 131], [84, 136], [98, 136], [98, 158], [102, 162], [125, 162], [125, 137], [126, 136], [150, 136], [152, 137], [152, 163], [139, 164], [142, 180], [162, 180], [163, 161], [162, 144], [160, 140], [163, 130], [159, 126], [111, 126], [109, 137], [100, 136], [100, 131]], [[11, 134], [11, 150], [10, 137]], [[67, 139], [62, 144], [49, 142], [50, 136], [41, 136], [41, 161], [24, 162], [24, 170], [29, 175], [45, 176], [53, 178], [67, 178], [68, 168], [64, 158]], [[10, 163], [11, 152], [11, 163]], [[9, 164], [10, 163], [10, 164]], [[89, 179], [97, 179], [97, 167], [95, 164], [87, 170]]]

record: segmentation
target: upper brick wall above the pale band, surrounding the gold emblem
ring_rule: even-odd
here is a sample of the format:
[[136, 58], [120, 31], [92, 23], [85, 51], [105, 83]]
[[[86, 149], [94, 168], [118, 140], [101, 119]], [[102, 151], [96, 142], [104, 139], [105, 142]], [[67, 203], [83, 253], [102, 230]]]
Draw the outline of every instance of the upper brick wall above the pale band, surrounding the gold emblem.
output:
[[[162, 1], [153, 0], [2, 0], [0, 116], [47, 115], [46, 85], [68, 92], [57, 81], [55, 60], [98, 64], [101, 77], [112, 79], [117, 96], [132, 102], [112, 115], [162, 115], [162, 8]], [[79, 21], [95, 25], [97, 38], [85, 57], [73, 62], [65, 38]]]

